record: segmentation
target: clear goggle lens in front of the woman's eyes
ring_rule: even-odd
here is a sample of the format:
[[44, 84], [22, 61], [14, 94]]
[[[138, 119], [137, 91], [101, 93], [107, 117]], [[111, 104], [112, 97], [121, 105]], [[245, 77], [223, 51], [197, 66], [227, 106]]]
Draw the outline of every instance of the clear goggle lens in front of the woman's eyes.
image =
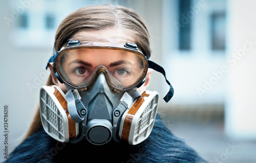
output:
[[81, 46], [58, 54], [57, 71], [61, 79], [75, 88], [90, 85], [100, 71], [110, 85], [127, 90], [138, 85], [147, 72], [146, 58], [126, 48]]

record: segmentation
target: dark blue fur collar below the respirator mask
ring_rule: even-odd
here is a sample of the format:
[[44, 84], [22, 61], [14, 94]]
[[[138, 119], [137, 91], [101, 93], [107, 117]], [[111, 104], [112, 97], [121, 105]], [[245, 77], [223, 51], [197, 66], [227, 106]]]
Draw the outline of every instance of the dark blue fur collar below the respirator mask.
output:
[[64, 144], [51, 138], [44, 129], [27, 138], [6, 162], [205, 162], [198, 154], [169, 132], [157, 115], [150, 137], [131, 146], [110, 142], [95, 146], [86, 141]]

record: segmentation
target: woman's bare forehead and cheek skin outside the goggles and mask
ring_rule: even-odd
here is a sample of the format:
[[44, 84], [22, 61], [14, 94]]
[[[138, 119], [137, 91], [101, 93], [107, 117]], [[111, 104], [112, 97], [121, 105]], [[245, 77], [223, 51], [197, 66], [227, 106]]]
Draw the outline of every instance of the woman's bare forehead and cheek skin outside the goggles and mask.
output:
[[[76, 33], [74, 36], [127, 38], [130, 40], [133, 40], [133, 39], [131, 39], [131, 37], [129, 35], [127, 35], [127, 34], [125, 35], [121, 30], [116, 29], [116, 28], [106, 29], [106, 30], [101, 30], [101, 31], [80, 31], [80, 32]], [[49, 64], [49, 68], [51, 70], [51, 76], [52, 76], [53, 83], [55, 85], [59, 86], [59, 88], [66, 94], [67, 88], [66, 88], [65, 84], [64, 83], [61, 84], [54, 74], [53, 63]], [[138, 91], [146, 90], [146, 88], [150, 84], [151, 74], [152, 74], [152, 69], [148, 68], [148, 71], [147, 71], [147, 74], [145, 77], [146, 81], [144, 82], [144, 84], [141, 87], [138, 88]]]

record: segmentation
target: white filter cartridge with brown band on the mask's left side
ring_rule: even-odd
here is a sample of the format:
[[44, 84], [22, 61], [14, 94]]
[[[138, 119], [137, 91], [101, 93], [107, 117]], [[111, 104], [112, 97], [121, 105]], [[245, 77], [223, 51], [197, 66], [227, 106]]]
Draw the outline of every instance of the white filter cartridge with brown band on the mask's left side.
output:
[[46, 133], [59, 142], [69, 142], [79, 134], [68, 110], [65, 94], [55, 85], [40, 88], [40, 116]]

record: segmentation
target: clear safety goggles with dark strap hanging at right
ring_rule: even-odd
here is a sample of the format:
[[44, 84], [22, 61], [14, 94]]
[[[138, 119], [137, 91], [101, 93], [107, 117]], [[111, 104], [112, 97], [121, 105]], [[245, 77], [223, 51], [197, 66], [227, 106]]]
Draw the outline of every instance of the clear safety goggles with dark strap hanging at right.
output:
[[[70, 38], [48, 64], [51, 62], [56, 63], [55, 75], [60, 82], [82, 90], [93, 83], [99, 72], [105, 73], [109, 84], [116, 90], [138, 87], [143, 83], [148, 68], [165, 76], [164, 69], [147, 60], [135, 43], [118, 38]], [[170, 85], [167, 79], [166, 82]], [[172, 96], [173, 87], [170, 85], [165, 101], [168, 102]]]

